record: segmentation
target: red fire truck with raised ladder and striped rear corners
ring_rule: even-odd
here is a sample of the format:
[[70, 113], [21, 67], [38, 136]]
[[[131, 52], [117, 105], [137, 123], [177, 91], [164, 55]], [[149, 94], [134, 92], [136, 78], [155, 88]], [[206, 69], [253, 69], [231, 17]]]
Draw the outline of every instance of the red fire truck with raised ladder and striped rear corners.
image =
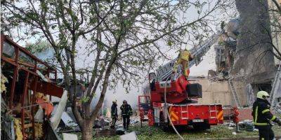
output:
[[[214, 34], [202, 45], [190, 50], [195, 59], [189, 63], [189, 68], [202, 61], [218, 36]], [[197, 104], [198, 98], [202, 98], [202, 86], [186, 80], [181, 65], [173, 73], [175, 63], [176, 59], [173, 59], [157, 69], [157, 73], [149, 74], [150, 94], [138, 97], [141, 122], [145, 121], [147, 115], [148, 125], [162, 128], [192, 125], [196, 130], [207, 130], [211, 125], [223, 123], [222, 105]]]

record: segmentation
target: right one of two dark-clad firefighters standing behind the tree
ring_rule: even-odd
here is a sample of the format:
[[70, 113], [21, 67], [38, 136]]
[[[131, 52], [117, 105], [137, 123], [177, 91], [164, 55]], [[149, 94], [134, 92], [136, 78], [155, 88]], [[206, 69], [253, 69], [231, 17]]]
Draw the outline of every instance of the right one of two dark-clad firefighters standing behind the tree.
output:
[[131, 106], [127, 103], [126, 100], [123, 101], [122, 106], [120, 106], [122, 111], [122, 118], [123, 118], [123, 127], [124, 130], [128, 130], [130, 124], [130, 116], [133, 114]]

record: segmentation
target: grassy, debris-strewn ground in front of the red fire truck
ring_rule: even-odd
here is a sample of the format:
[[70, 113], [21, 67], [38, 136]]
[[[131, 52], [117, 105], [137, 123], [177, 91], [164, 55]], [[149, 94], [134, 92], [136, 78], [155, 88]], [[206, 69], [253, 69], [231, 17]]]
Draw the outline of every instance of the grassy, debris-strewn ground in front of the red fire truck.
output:
[[[275, 137], [280, 138], [281, 127], [273, 126]], [[160, 140], [160, 139], [178, 139], [177, 135], [173, 131], [164, 132], [159, 127], [148, 127], [144, 125], [141, 127], [139, 124], [129, 127], [128, 132], [136, 132], [138, 139], [140, 140]], [[233, 135], [235, 130], [229, 130], [226, 125], [212, 126], [210, 130], [195, 131], [190, 129], [181, 130], [180, 134], [184, 139], [258, 139], [259, 132], [246, 132], [242, 130], [240, 133]], [[94, 137], [95, 140], [113, 140], [119, 139], [119, 136], [115, 137]]]

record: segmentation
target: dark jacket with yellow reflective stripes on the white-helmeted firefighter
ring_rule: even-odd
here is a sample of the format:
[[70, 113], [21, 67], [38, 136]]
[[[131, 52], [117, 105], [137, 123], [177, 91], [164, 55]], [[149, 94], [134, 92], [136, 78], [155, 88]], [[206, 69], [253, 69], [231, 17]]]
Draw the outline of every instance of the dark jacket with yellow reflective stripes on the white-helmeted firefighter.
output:
[[254, 125], [256, 128], [267, 127], [270, 121], [277, 123], [277, 118], [270, 113], [270, 104], [264, 99], [256, 99], [253, 104], [252, 116], [254, 118]]

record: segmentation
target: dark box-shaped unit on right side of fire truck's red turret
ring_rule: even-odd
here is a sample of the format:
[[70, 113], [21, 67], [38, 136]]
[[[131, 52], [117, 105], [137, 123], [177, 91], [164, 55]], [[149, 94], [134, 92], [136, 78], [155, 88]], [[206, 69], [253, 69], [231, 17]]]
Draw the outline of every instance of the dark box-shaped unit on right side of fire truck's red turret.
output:
[[202, 98], [202, 85], [199, 83], [192, 83], [186, 85], [186, 92], [188, 97], [200, 97]]

